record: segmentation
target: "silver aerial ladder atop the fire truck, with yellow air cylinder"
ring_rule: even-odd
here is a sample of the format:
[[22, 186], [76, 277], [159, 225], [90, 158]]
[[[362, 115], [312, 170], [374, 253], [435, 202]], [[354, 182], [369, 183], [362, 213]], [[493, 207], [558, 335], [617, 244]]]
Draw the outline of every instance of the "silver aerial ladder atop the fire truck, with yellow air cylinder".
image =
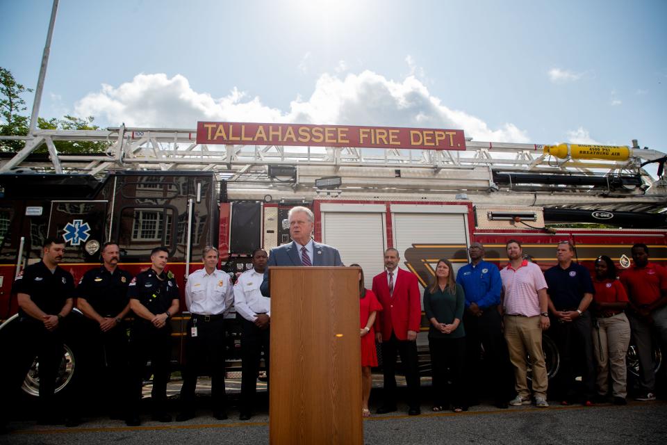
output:
[[[465, 151], [206, 145], [195, 129], [113, 127], [40, 130], [0, 173], [112, 170], [210, 170], [227, 182], [230, 199], [470, 200], [474, 204], [659, 211], [667, 207], [667, 155], [627, 147], [490, 143], [466, 140]], [[58, 141], [104, 143], [99, 154], [59, 153]], [[38, 154], [38, 150], [48, 154]], [[659, 165], [654, 179], [645, 167]]]

